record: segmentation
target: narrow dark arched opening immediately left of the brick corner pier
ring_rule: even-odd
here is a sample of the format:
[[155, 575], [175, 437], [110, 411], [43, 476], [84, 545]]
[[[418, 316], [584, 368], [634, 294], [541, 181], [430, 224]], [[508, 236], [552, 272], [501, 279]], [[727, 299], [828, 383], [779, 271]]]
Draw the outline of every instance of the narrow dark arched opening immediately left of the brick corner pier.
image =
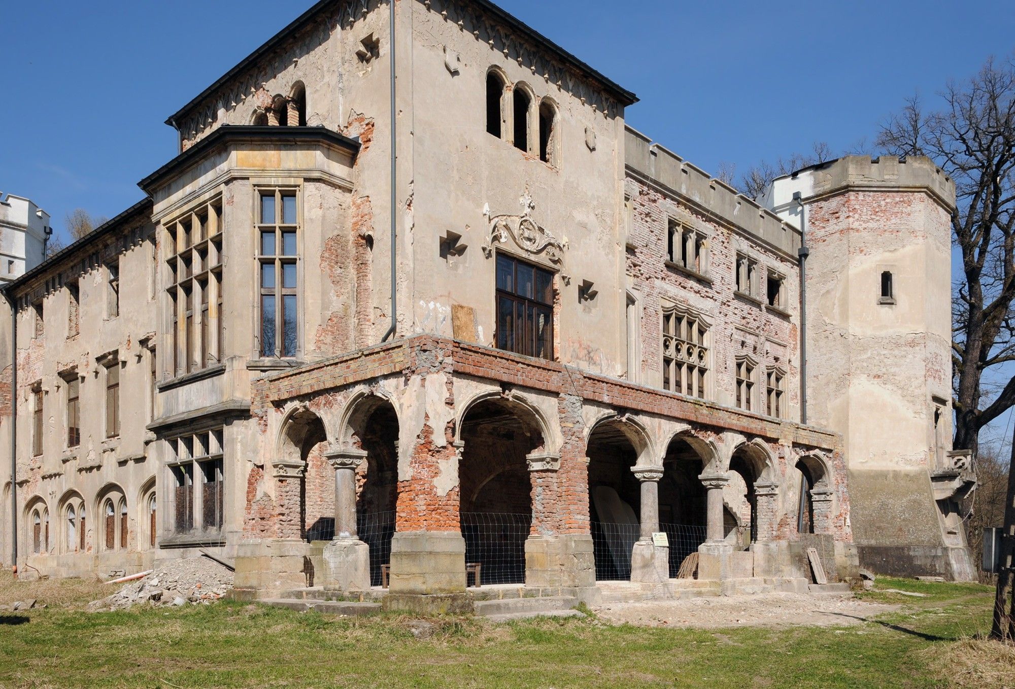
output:
[[352, 444], [366, 453], [356, 468], [356, 533], [370, 549], [370, 584], [381, 585], [391, 563], [398, 499], [398, 414], [390, 402], [367, 397], [349, 419]]

